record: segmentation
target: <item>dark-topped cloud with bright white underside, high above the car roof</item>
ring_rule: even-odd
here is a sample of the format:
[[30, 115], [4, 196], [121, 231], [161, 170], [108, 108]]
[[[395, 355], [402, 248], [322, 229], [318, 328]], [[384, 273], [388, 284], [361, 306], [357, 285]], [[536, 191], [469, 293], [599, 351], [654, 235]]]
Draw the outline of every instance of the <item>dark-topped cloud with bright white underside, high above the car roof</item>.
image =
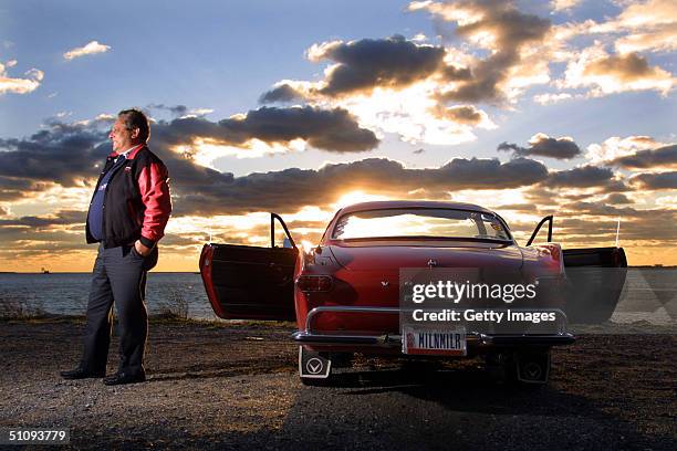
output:
[[473, 127], [490, 129], [496, 124], [472, 105], [439, 102], [440, 76], [449, 72], [458, 77], [470, 75], [469, 70], [445, 65], [444, 54], [442, 48], [419, 45], [403, 36], [315, 44], [309, 51], [313, 61], [336, 62], [325, 71], [324, 80], [283, 80], [263, 93], [260, 102], [344, 108], [363, 126], [396, 134], [410, 144], [473, 140]]

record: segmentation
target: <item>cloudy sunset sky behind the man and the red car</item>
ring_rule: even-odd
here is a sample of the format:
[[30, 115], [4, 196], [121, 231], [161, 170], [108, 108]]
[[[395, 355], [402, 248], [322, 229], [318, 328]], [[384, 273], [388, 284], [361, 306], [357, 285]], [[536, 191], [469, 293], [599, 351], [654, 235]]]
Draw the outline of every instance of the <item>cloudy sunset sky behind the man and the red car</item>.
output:
[[90, 271], [115, 114], [153, 118], [174, 213], [156, 271], [215, 242], [316, 243], [341, 206], [479, 203], [524, 243], [677, 264], [677, 3], [7, 1], [0, 271]]

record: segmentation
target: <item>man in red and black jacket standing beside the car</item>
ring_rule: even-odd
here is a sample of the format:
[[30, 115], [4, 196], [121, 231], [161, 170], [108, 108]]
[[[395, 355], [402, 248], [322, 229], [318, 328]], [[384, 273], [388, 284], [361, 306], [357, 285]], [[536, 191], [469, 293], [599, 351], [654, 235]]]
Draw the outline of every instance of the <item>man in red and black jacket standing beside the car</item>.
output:
[[98, 242], [87, 303], [84, 353], [65, 379], [104, 377], [113, 319], [119, 323], [119, 364], [106, 385], [143, 382], [148, 317], [144, 304], [146, 274], [157, 263], [157, 242], [171, 212], [167, 168], [146, 147], [147, 117], [124, 109], [108, 137], [106, 158], [87, 213], [87, 243]]

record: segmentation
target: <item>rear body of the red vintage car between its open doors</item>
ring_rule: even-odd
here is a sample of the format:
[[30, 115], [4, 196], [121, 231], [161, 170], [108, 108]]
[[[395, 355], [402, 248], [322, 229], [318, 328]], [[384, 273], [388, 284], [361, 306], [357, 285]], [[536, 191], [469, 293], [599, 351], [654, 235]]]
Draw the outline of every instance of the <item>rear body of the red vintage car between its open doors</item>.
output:
[[[530, 306], [559, 313], [561, 324], [550, 333], [539, 331], [538, 336], [531, 334], [527, 337], [531, 339], [525, 339], [523, 329], [497, 332], [493, 324], [475, 323], [472, 327], [464, 325], [460, 349], [406, 348], [402, 338], [406, 312], [400, 289], [407, 283], [403, 270], [449, 277], [470, 271], [479, 277], [476, 282], [489, 283], [539, 280], [556, 287], [564, 282], [559, 245], [520, 249], [502, 219], [481, 207], [403, 201], [352, 206], [335, 216], [314, 252], [300, 259], [295, 285], [299, 332], [294, 339], [303, 345], [302, 357], [319, 353], [329, 365], [326, 356], [342, 352], [448, 357], [491, 354], [514, 346], [529, 347], [531, 354], [538, 349], [542, 355], [549, 346], [573, 342], [560, 310], [563, 300], [549, 296], [546, 305], [541, 297]], [[481, 306], [504, 311], [507, 305], [499, 300]]]

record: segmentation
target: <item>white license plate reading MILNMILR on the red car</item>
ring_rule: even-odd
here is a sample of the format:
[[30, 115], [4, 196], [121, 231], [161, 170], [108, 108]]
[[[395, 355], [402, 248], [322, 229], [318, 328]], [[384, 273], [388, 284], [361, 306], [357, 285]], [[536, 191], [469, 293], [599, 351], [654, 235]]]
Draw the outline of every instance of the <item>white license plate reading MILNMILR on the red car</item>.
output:
[[405, 327], [402, 333], [402, 352], [429, 356], [465, 356], [466, 329], [425, 329]]

